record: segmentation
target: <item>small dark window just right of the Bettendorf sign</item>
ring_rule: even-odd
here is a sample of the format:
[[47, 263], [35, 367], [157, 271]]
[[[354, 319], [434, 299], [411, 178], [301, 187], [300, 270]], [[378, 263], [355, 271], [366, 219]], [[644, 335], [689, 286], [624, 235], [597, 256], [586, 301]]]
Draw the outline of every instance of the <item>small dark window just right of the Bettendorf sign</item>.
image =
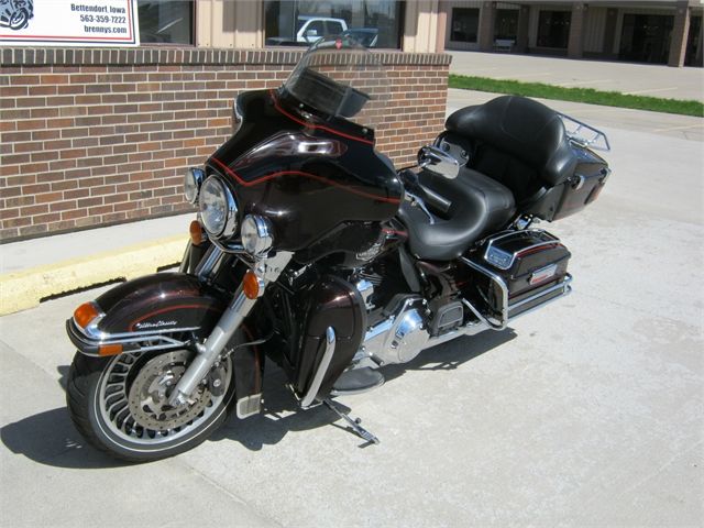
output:
[[143, 44], [193, 44], [193, 1], [138, 0], [140, 41]]

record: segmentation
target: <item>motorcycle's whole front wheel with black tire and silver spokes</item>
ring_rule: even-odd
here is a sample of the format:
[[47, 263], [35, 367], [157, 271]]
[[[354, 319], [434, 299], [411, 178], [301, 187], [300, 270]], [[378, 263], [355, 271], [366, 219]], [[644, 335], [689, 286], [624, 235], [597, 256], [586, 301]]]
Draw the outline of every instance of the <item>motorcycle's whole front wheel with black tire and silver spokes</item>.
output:
[[168, 398], [194, 353], [87, 358], [77, 353], [66, 400], [78, 431], [94, 447], [129, 462], [173, 457], [205, 441], [224, 421], [234, 397], [232, 361], [226, 359], [187, 405]]

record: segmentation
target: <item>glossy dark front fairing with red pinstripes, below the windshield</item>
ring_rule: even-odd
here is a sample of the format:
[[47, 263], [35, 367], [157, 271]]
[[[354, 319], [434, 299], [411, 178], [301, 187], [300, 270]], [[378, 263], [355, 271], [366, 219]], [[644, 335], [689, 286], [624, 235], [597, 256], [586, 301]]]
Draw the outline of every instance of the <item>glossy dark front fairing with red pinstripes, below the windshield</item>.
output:
[[268, 218], [275, 249], [284, 251], [322, 242], [319, 252], [329, 252], [326, 237], [341, 224], [376, 240], [381, 222], [398, 210], [403, 186], [391, 161], [374, 150], [373, 130], [323, 119], [285, 91], [246, 92], [235, 105], [239, 130], [206, 168], [231, 187], [240, 219]]

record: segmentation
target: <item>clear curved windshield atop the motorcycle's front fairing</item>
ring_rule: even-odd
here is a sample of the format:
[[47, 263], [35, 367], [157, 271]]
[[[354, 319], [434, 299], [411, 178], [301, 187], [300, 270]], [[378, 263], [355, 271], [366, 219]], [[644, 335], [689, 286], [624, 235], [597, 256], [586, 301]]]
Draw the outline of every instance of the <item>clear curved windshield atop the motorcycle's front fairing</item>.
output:
[[378, 56], [354, 37], [323, 37], [301, 57], [284, 90], [326, 118], [344, 118], [375, 128], [391, 98]]

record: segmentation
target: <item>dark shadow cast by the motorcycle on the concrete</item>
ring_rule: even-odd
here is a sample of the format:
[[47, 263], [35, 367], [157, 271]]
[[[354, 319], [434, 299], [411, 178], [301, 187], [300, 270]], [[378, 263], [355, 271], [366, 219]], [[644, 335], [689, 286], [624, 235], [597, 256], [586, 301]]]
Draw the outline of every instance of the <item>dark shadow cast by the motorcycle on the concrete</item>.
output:
[[[389, 383], [407, 371], [453, 370], [462, 364], [513, 340], [515, 332], [484, 332], [473, 338], [460, 338], [433, 349], [421, 352], [413, 361], [382, 369]], [[270, 365], [271, 366], [271, 365]], [[59, 384], [65, 388], [67, 366], [59, 366]], [[286, 377], [277, 367], [267, 369], [264, 386], [264, 411], [260, 415], [239, 420], [231, 417], [209, 441], [237, 441], [251, 451], [280, 442], [288, 432], [333, 426], [344, 431], [345, 427], [337, 414], [320, 405], [307, 411], [298, 410], [298, 404], [292, 393], [285, 388]], [[343, 413], [351, 409], [336, 400]], [[0, 429], [0, 440], [14, 454], [44, 465], [66, 469], [108, 469], [130, 465], [116, 461], [86, 444], [74, 428], [66, 407], [40, 413], [9, 424]], [[359, 440], [360, 447], [369, 443]]]

